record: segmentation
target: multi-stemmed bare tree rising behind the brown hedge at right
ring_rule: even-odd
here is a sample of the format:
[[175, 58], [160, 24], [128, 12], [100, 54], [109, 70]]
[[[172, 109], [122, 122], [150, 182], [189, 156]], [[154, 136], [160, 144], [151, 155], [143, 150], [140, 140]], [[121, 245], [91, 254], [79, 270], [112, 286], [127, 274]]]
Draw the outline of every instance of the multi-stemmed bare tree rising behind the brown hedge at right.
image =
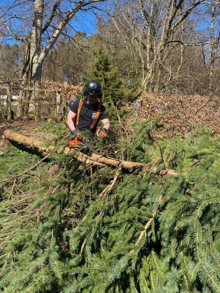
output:
[[[210, 38], [201, 42], [199, 34], [193, 34], [199, 13], [208, 5], [205, 0], [115, 0], [113, 7], [109, 4], [109, 22], [114, 24], [125, 49], [130, 51], [131, 64], [138, 68], [144, 90], [157, 92], [162, 72], [167, 73], [166, 83], [173, 79], [167, 61], [177, 47], [179, 63], [183, 64], [185, 46], [212, 43]], [[181, 67], [177, 66], [176, 76]]]

